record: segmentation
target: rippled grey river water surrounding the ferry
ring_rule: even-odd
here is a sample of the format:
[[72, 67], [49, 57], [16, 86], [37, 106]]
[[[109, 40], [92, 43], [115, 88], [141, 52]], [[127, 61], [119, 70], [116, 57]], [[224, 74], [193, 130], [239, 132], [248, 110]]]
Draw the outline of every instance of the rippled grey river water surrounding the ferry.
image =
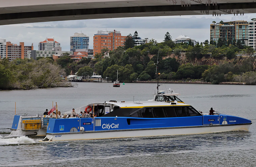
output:
[[38, 142], [10, 134], [16, 114], [66, 112], [88, 103], [152, 99], [156, 84], [78, 83], [75, 88], [0, 91], [0, 166], [256, 166], [256, 86], [164, 84], [195, 109], [252, 120], [250, 130], [169, 137]]

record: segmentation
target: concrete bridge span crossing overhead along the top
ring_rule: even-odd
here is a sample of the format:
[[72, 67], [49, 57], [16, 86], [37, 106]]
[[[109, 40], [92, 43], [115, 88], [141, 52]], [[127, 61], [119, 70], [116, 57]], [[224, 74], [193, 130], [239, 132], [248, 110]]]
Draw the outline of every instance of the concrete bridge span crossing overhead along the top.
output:
[[0, 25], [121, 17], [256, 13], [256, 0], [6, 0]]

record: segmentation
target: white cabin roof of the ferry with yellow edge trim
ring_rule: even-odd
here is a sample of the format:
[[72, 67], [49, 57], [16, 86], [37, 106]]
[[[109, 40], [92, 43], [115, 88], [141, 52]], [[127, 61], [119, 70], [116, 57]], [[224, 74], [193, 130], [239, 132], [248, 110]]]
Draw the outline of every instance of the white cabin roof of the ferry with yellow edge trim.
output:
[[[158, 101], [135, 101], [135, 102], [104, 102], [104, 104], [114, 104], [121, 108], [143, 108], [143, 107], [151, 107], [151, 106], [186, 106], [188, 104], [175, 102], [158, 102]], [[97, 105], [99, 103], [89, 104], [93, 106], [93, 104]], [[190, 106], [190, 105], [189, 105]]]

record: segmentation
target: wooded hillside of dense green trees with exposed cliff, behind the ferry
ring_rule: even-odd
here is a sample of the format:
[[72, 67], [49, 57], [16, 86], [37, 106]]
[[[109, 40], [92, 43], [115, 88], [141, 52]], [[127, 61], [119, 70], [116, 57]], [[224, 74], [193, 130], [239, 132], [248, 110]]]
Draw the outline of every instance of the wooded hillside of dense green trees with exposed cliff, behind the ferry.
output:
[[[167, 32], [164, 41], [157, 43], [154, 39], [148, 43], [134, 46], [136, 34], [129, 34], [125, 38], [125, 46], [109, 51], [109, 57], [103, 55], [108, 49], [102, 49], [95, 54], [96, 59], [83, 58], [74, 63], [68, 56], [58, 59], [67, 74], [91, 74], [92, 71], [109, 80], [118, 78], [121, 81], [132, 82], [138, 80], [156, 79], [157, 57], [159, 57], [160, 79], [163, 80], [202, 80], [219, 84], [220, 82], [245, 82], [256, 84], [256, 60], [253, 49], [245, 46], [243, 40], [214, 41], [205, 40], [196, 45], [188, 43], [174, 44]], [[242, 52], [248, 57], [236, 56]], [[84, 69], [88, 66], [89, 68]], [[84, 74], [83, 74], [84, 73]]]

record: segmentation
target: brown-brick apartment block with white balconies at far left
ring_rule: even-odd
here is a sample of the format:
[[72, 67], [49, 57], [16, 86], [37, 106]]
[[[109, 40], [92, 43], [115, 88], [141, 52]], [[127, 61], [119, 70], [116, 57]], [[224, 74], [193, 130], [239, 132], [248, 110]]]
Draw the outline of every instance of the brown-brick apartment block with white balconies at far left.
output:
[[33, 43], [31, 46], [24, 46], [24, 42], [20, 42], [20, 45], [6, 42], [6, 58], [9, 58], [10, 61], [18, 58], [24, 59], [28, 57], [27, 52], [33, 49]]

